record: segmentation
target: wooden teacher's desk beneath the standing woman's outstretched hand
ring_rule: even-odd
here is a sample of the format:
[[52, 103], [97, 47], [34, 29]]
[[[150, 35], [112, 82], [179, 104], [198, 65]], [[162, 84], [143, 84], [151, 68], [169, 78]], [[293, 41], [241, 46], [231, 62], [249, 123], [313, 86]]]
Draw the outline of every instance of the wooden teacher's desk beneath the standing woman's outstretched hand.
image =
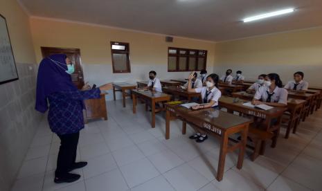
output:
[[98, 99], [84, 100], [85, 111], [84, 111], [84, 123], [88, 120], [104, 118], [107, 120], [107, 109], [105, 95], [107, 93], [101, 93]]

